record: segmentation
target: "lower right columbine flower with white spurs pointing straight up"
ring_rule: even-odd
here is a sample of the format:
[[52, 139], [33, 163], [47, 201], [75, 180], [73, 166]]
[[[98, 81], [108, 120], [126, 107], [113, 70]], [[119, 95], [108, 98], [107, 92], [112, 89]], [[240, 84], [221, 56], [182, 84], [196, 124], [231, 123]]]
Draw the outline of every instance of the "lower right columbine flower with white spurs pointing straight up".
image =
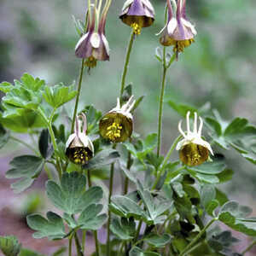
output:
[[211, 145], [201, 138], [201, 130], [203, 120], [201, 117], [199, 129], [197, 131], [197, 113], [194, 119], [194, 131], [189, 128], [189, 114], [187, 113], [187, 133], [185, 134], [181, 128], [182, 120], [178, 123], [178, 131], [183, 135], [183, 140], [177, 143], [176, 150], [179, 150], [179, 158], [187, 166], [201, 165], [208, 159], [209, 151], [213, 155]]

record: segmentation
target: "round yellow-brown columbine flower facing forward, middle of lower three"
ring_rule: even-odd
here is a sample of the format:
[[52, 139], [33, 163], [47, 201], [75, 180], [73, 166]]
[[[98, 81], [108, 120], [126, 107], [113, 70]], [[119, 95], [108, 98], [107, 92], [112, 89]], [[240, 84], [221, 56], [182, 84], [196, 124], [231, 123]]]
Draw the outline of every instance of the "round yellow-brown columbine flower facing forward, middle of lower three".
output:
[[109, 139], [113, 143], [122, 143], [132, 133], [132, 115], [131, 109], [135, 104], [133, 96], [120, 107], [119, 98], [115, 108], [106, 113], [100, 120], [100, 134], [102, 137]]

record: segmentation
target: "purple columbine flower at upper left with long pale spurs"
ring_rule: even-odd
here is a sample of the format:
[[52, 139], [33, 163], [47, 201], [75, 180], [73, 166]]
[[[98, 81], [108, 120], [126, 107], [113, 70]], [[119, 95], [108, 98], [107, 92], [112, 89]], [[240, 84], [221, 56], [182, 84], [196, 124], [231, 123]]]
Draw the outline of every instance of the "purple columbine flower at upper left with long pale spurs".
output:
[[[95, 6], [88, 0], [87, 29], [75, 47], [75, 55], [86, 59], [84, 65], [96, 67], [96, 61], [109, 61], [109, 46], [105, 36], [106, 18], [112, 0], [102, 0]], [[101, 16], [101, 17], [100, 17]]]

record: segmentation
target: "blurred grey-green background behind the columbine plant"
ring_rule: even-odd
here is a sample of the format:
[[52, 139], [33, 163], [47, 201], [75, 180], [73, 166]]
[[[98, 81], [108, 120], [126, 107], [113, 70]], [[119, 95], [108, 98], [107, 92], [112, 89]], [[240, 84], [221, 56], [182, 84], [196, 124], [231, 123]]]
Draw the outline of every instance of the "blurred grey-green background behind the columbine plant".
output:
[[[119, 95], [125, 49], [131, 31], [118, 18], [123, 2], [113, 0], [106, 28], [110, 61], [98, 62], [90, 75], [84, 75], [80, 109], [94, 104], [106, 112], [113, 108]], [[185, 49], [168, 72], [166, 101], [183, 102], [197, 108], [210, 102], [224, 119], [239, 116], [256, 125], [256, 2], [187, 2], [187, 15], [195, 24], [198, 35], [195, 44]], [[142, 135], [157, 131], [161, 68], [154, 57], [155, 48], [160, 46], [155, 33], [164, 26], [166, 2], [152, 0], [152, 3], [156, 13], [154, 25], [143, 29], [141, 36], [137, 37], [126, 79], [127, 84], [132, 82], [135, 96], [145, 95], [135, 118], [135, 131]], [[0, 81], [13, 82], [23, 73], [45, 79], [47, 84], [72, 84], [77, 80], [80, 60], [74, 55], [74, 47], [79, 35], [73, 26], [72, 15], [82, 20], [85, 9], [85, 0], [1, 0]], [[73, 108], [73, 105], [71, 102], [69, 107]], [[163, 153], [177, 137], [179, 119], [180, 116], [165, 104]], [[219, 148], [217, 150], [221, 153]], [[9, 180], [4, 177], [9, 160], [24, 153], [28, 152], [14, 143], [0, 150], [0, 235], [15, 234], [26, 247], [38, 249], [41, 253], [54, 252], [55, 242], [50, 242], [49, 245], [54, 245], [48, 247], [45, 240], [32, 240], [32, 232], [27, 230], [24, 218], [33, 207], [44, 209], [45, 195], [40, 191], [44, 189], [45, 177], [22, 195], [14, 195], [9, 189]], [[225, 156], [235, 174], [232, 182], [225, 183], [221, 189], [229, 193], [230, 199], [253, 207], [255, 215], [255, 167], [238, 157], [234, 150]], [[239, 252], [247, 244], [245, 236], [241, 236], [241, 240], [243, 242], [237, 247]]]

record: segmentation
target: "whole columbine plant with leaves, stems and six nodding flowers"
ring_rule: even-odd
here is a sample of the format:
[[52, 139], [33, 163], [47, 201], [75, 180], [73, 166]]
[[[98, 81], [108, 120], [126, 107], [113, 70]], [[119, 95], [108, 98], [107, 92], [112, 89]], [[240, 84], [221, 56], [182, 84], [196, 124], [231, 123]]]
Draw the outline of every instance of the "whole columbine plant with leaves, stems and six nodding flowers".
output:
[[[217, 152], [218, 147], [235, 148], [255, 165], [256, 128], [247, 119], [228, 122], [217, 110], [170, 102], [186, 119], [186, 129], [181, 120], [177, 125], [180, 136], [166, 155], [160, 150], [166, 73], [172, 63], [179, 65], [185, 48], [195, 42], [185, 0], [167, 0], [163, 10], [166, 25], [159, 33], [163, 47], [155, 54], [162, 67], [157, 133], [132, 134], [133, 115], [143, 97], [133, 96], [131, 85], [125, 84], [133, 43], [143, 37], [145, 27], [154, 24], [154, 7], [148, 0], [128, 0], [120, 12], [120, 20], [131, 27], [131, 37], [117, 103], [103, 114], [92, 106], [78, 109], [83, 76], [90, 75], [91, 68], [96, 73], [97, 62], [109, 59], [105, 25], [110, 5], [111, 0], [88, 0], [84, 22], [75, 20], [80, 36], [75, 55], [81, 59], [78, 90], [61, 83], [49, 86], [27, 73], [15, 84], [0, 84], [5, 93], [0, 145], [15, 140], [32, 150], [32, 154], [11, 160], [6, 177], [19, 178], [11, 187], [21, 193], [45, 171], [49, 177], [46, 194], [59, 210], [58, 214], [47, 212], [46, 217], [38, 213], [27, 216], [28, 226], [35, 230], [33, 237], [67, 240], [68, 249], [54, 255], [85, 255], [87, 234], [94, 236], [93, 255], [97, 256], [243, 255], [255, 241], [243, 252], [233, 253], [236, 238], [230, 231], [212, 228], [213, 223], [222, 222], [256, 236], [256, 218], [248, 217], [251, 209], [229, 201], [218, 189], [233, 172]], [[68, 126], [56, 126], [62, 120], [61, 109], [73, 99]], [[38, 148], [20, 140], [16, 132], [37, 137]], [[171, 161], [175, 150], [179, 159]], [[108, 187], [101, 181], [107, 168]], [[119, 172], [124, 178], [120, 181], [123, 191], [113, 195], [113, 177]], [[98, 241], [99, 230], [107, 231], [104, 243]], [[8, 256], [39, 255], [22, 248], [15, 236], [0, 237], [0, 248]]]

